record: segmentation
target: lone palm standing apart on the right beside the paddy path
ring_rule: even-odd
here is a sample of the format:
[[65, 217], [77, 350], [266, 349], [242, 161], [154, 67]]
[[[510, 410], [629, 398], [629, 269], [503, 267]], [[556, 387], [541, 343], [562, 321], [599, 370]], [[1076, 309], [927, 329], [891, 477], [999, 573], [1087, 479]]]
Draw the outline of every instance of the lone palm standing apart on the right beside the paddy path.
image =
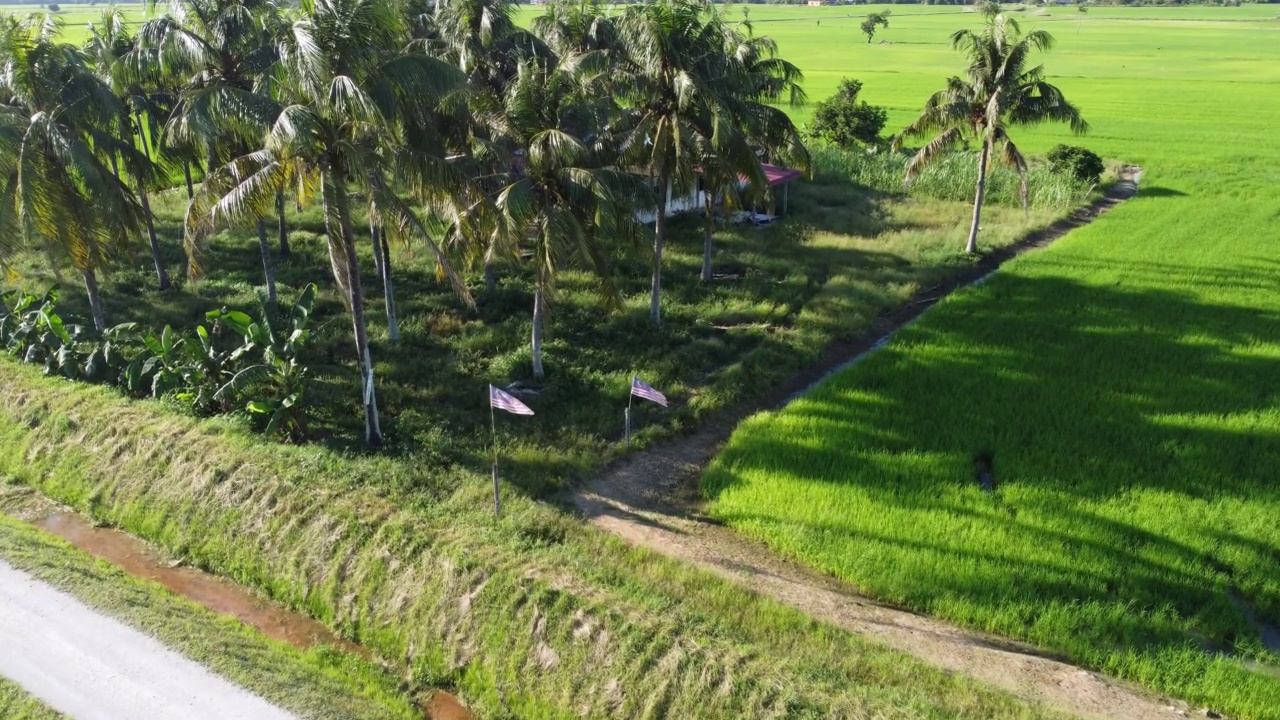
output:
[[997, 13], [979, 32], [961, 29], [952, 35], [951, 45], [969, 58], [965, 77], [947, 78], [946, 87], [929, 97], [920, 117], [902, 131], [895, 145], [905, 137], [933, 136], [908, 163], [906, 183], [910, 184], [950, 150], [970, 141], [980, 143], [978, 188], [965, 243], [965, 252], [972, 254], [978, 251], [978, 222], [993, 152], [1018, 173], [1023, 205], [1028, 201], [1027, 159], [1009, 137], [1009, 128], [1060, 122], [1068, 123], [1073, 133], [1082, 135], [1089, 124], [1061, 90], [1046, 82], [1043, 65], [1028, 67], [1033, 51], [1053, 46], [1053, 36], [1048, 32], [1037, 29], [1023, 35], [1015, 19]]

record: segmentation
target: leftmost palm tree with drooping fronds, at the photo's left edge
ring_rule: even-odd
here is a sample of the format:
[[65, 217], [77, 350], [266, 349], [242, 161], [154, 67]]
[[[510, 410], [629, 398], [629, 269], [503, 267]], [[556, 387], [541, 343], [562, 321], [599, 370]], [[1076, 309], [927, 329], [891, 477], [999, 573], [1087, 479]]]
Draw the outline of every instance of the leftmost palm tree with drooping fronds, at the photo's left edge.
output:
[[138, 173], [146, 159], [120, 140], [119, 99], [81, 49], [58, 41], [56, 18], [0, 22], [0, 265], [24, 241], [69, 258], [93, 325], [106, 329], [97, 274], [128, 249], [142, 220], [109, 159]]

